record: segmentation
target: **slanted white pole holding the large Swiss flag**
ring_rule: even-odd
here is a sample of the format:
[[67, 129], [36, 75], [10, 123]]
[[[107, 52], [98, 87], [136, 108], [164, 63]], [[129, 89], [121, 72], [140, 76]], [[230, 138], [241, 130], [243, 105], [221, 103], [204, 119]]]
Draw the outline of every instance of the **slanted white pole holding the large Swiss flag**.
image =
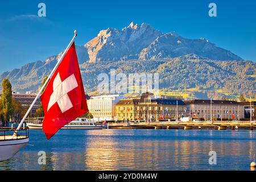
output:
[[44, 82], [42, 88], [39, 90], [38, 94], [36, 95], [34, 101], [32, 102], [32, 104], [30, 105], [30, 107], [27, 110], [27, 113], [24, 115], [22, 121], [20, 121], [19, 126], [16, 128], [16, 130], [14, 131], [14, 135], [16, 134], [16, 131], [20, 129], [20, 127], [22, 126], [23, 122], [25, 121], [25, 119], [27, 118], [27, 115], [30, 113], [32, 107], [35, 105], [35, 102], [38, 100], [40, 93], [43, 92], [43, 89], [46, 87], [46, 85], [48, 84], [48, 81], [51, 79], [53, 73], [56, 71], [57, 67], [59, 66], [59, 64], [61, 63], [61, 61], [63, 60], [63, 57], [66, 55], [66, 53], [68, 52], [68, 49], [71, 47], [71, 45], [73, 44], [73, 42], [75, 41], [75, 38], [77, 36], [77, 32], [76, 30], [74, 31], [74, 36], [71, 40], [71, 42], [68, 44], [68, 47], [65, 49], [65, 51], [63, 52], [63, 54], [61, 55], [61, 57], [59, 58], [59, 60], [57, 61], [57, 64], [55, 65], [55, 67], [52, 69], [52, 72], [50, 73], [50, 75], [48, 76], [46, 82]]

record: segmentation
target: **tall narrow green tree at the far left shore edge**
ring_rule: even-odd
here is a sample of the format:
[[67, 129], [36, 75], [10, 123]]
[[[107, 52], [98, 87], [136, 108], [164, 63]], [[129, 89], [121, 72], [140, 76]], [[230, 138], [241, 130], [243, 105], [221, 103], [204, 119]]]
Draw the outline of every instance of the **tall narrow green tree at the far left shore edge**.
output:
[[8, 122], [13, 115], [13, 93], [10, 81], [5, 78], [2, 82], [2, 115], [3, 121]]

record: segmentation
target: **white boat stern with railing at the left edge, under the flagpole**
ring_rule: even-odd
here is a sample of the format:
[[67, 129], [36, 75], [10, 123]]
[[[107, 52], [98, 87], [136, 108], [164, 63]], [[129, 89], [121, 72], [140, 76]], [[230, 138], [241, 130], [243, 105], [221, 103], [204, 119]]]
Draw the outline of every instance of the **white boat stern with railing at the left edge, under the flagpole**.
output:
[[28, 129], [20, 129], [14, 134], [13, 129], [0, 128], [0, 161], [13, 158], [28, 141]]

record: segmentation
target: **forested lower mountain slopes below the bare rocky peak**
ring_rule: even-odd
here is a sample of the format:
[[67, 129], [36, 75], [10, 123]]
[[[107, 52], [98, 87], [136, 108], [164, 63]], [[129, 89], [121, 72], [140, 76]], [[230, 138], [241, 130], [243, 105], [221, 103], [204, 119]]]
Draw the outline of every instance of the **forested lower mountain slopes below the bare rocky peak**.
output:
[[[51, 72], [56, 61], [36, 61], [20, 69], [6, 72], [0, 77], [9, 77], [16, 92], [34, 91], [41, 85], [43, 78]], [[34, 67], [34, 69], [31, 69]], [[252, 61], [216, 61], [196, 55], [175, 59], [102, 61], [80, 64], [86, 93], [97, 90], [100, 73], [115, 69], [117, 73], [159, 73], [159, 88], [169, 92], [188, 92], [192, 96], [204, 93], [208, 97], [225, 95], [255, 96], [256, 63]], [[195, 89], [196, 90], [191, 90]]]

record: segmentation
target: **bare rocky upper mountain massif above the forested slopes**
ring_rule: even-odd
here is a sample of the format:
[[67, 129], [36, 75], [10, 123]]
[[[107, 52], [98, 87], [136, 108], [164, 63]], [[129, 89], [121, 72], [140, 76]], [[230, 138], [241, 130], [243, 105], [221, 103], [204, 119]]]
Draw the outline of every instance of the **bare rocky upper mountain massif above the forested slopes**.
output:
[[216, 47], [209, 40], [187, 39], [176, 32], [164, 34], [150, 24], [131, 24], [122, 30], [101, 30], [96, 38], [84, 45], [89, 62], [131, 59], [173, 58], [195, 53], [216, 60], [243, 60], [234, 53]]

